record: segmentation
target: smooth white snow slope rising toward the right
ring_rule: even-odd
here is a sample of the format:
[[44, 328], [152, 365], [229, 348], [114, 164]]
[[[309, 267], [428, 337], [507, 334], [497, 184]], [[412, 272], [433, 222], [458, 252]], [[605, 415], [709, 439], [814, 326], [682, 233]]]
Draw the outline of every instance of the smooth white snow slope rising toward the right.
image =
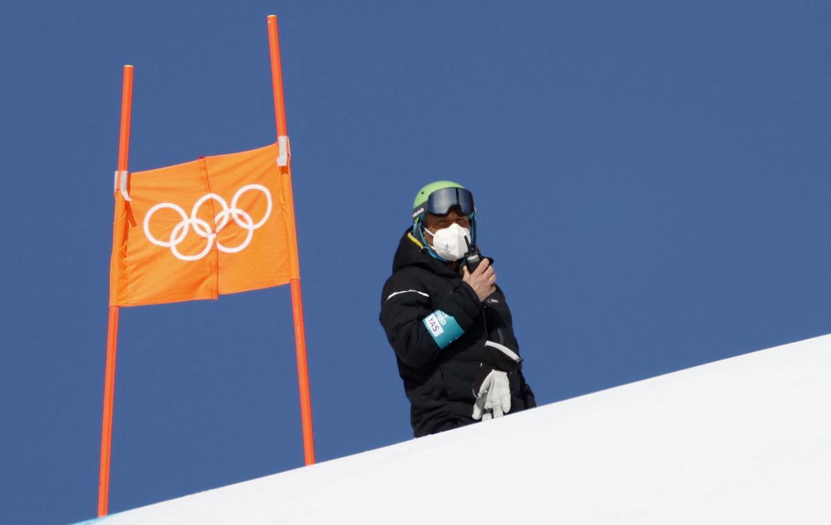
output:
[[828, 524], [831, 335], [98, 521]]

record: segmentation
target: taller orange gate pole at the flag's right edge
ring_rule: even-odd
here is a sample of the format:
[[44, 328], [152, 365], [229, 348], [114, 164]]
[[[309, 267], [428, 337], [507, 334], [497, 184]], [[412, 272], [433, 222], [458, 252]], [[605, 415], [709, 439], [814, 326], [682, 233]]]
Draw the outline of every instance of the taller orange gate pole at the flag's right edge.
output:
[[274, 88], [274, 115], [277, 119], [277, 141], [280, 156], [278, 164], [283, 177], [283, 191], [288, 197], [292, 213], [288, 215], [291, 250], [292, 312], [294, 316], [294, 343], [297, 349], [297, 383], [300, 387], [300, 415], [303, 428], [303, 456], [306, 464], [314, 463], [314, 434], [312, 432], [312, 398], [309, 394], [309, 374], [306, 361], [306, 332], [303, 327], [303, 302], [300, 293], [300, 259], [297, 256], [297, 230], [294, 223], [294, 198], [292, 194], [291, 152], [286, 131], [286, 105], [283, 100], [283, 71], [280, 66], [280, 42], [277, 17], [268, 17], [268, 47], [271, 54], [271, 81]]

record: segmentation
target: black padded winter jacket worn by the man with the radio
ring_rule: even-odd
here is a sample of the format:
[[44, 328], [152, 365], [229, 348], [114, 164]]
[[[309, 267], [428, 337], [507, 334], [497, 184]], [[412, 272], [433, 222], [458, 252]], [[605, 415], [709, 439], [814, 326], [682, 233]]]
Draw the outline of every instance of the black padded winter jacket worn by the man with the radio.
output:
[[[381, 292], [381, 326], [396, 351], [413, 434], [420, 437], [475, 422], [473, 382], [485, 341], [501, 341], [517, 353], [519, 346], [502, 290], [497, 287], [479, 302], [459, 272], [430, 257], [411, 231], [398, 244], [392, 276]], [[436, 310], [454, 316], [465, 331], [444, 350], [422, 323]], [[536, 406], [521, 371], [509, 373], [509, 380], [511, 413]]]

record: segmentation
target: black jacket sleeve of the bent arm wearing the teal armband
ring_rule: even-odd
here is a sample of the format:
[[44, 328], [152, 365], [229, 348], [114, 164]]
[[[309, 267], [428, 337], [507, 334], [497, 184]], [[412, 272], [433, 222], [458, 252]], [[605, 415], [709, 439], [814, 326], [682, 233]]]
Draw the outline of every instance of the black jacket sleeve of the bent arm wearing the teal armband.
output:
[[381, 326], [401, 361], [419, 368], [441, 353], [423, 321], [436, 310], [455, 318], [468, 331], [482, 310], [479, 297], [467, 283], [460, 282], [448, 294], [431, 297], [414, 276], [395, 275], [386, 282], [381, 297]]

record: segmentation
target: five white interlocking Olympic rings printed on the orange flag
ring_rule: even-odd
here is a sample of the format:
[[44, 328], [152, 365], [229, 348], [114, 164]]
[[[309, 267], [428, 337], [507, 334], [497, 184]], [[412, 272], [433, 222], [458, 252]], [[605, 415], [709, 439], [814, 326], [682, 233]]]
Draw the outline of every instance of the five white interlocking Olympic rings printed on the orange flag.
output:
[[[239, 198], [247, 192], [248, 190], [258, 190], [263, 192], [265, 195], [266, 201], [268, 202], [268, 207], [266, 208], [265, 215], [258, 223], [254, 223], [251, 215], [248, 214], [244, 209], [237, 208], [237, 204]], [[216, 224], [216, 231], [211, 230], [211, 226], [207, 221], [202, 220], [201, 218], [196, 217], [196, 213], [199, 212], [199, 206], [205, 203], [208, 199], [214, 199], [216, 202], [222, 206], [222, 211], [216, 214], [214, 217], [214, 223]], [[153, 237], [153, 234], [150, 233], [150, 218], [153, 216], [153, 213], [156, 211], [168, 208], [172, 209], [175, 212], [178, 212], [181, 216], [182, 220], [170, 231], [170, 239], [167, 241], [160, 241], [159, 239]], [[194, 209], [190, 211], [190, 216], [184, 213], [184, 209], [177, 206], [173, 203], [160, 203], [156, 204], [153, 208], [147, 211], [145, 215], [145, 235], [147, 236], [147, 240], [150, 243], [154, 243], [156, 246], [162, 246], [164, 248], [170, 248], [170, 252], [172, 252], [176, 258], [181, 259], [183, 261], [196, 261], [201, 258], [204, 258], [210, 252], [210, 248], [214, 245], [214, 240], [216, 240], [217, 233], [219, 233], [225, 226], [228, 225], [230, 219], [234, 219], [234, 222], [239, 225], [240, 228], [248, 230], [248, 235], [245, 237], [243, 243], [239, 246], [235, 246], [233, 248], [229, 248], [227, 246], [223, 246], [219, 243], [219, 240], [216, 240], [216, 247], [219, 248], [219, 251], [224, 253], [236, 253], [242, 251], [248, 243], [251, 243], [251, 239], [253, 238], [254, 230], [262, 226], [266, 220], [268, 220], [268, 216], [271, 215], [271, 194], [268, 193], [268, 188], [263, 186], [262, 184], [247, 184], [242, 188], [237, 190], [237, 193], [234, 194], [234, 199], [231, 199], [231, 205], [229, 206], [228, 203], [225, 202], [225, 199], [220, 197], [217, 194], [207, 194], [194, 204]], [[208, 242], [205, 243], [204, 249], [197, 253], [196, 255], [183, 255], [179, 253], [179, 250], [176, 248], [179, 246], [179, 243], [184, 241], [184, 238], [188, 235], [189, 228], [193, 226], [194, 232], [199, 235], [199, 237], [208, 239]]]

